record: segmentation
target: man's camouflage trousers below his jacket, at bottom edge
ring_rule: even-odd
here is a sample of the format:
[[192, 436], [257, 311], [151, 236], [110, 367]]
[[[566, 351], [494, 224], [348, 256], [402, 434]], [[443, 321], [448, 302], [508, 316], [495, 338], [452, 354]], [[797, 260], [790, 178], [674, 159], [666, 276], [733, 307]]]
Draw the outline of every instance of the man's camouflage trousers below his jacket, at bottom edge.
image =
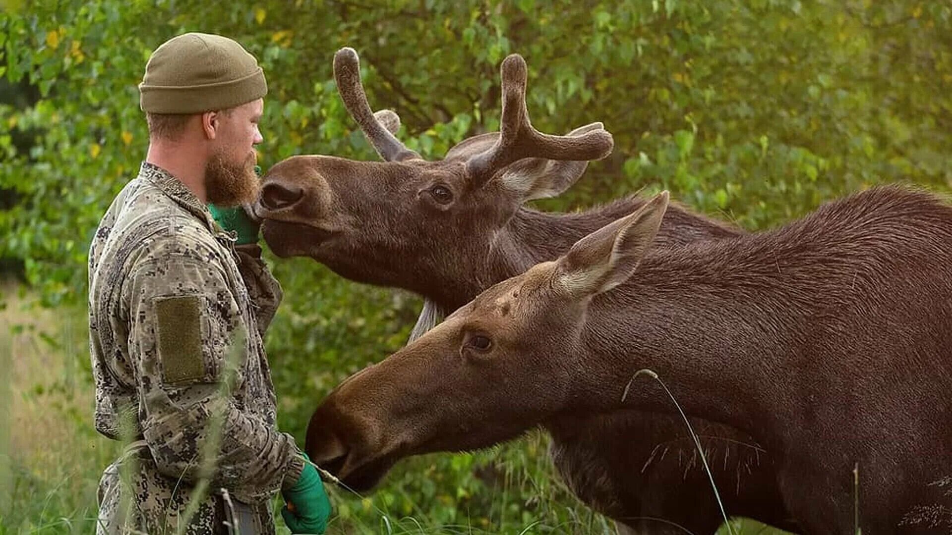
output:
[[[143, 451], [146, 454], [143, 454]], [[272, 535], [270, 502], [247, 505], [216, 489], [186, 519], [192, 487], [162, 475], [148, 448], [133, 447], [109, 465], [99, 481], [97, 535]], [[123, 474], [123, 470], [128, 473]], [[240, 530], [232, 525], [239, 525]]]

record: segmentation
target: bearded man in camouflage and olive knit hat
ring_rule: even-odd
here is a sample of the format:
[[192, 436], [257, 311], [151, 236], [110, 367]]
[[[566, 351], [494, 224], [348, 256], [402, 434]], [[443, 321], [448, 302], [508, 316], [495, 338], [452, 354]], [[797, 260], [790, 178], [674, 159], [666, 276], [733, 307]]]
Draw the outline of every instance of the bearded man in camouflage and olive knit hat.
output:
[[149, 152], [89, 249], [95, 425], [130, 443], [103, 474], [97, 531], [272, 533], [281, 489], [291, 530], [323, 532], [320, 476], [275, 428], [262, 335], [281, 288], [244, 211], [221, 218], [238, 236], [207, 208], [257, 195], [264, 73], [231, 39], [187, 33], [139, 90]]

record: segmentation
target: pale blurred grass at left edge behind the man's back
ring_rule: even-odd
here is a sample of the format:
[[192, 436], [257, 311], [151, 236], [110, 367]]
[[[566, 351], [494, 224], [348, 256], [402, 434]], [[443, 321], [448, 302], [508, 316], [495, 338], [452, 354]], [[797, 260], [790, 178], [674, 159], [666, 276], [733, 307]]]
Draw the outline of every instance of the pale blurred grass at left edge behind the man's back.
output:
[[[0, 310], [0, 532], [89, 533], [118, 445], [92, 428], [86, 322], [4, 289]], [[64, 313], [67, 312], [67, 313]]]

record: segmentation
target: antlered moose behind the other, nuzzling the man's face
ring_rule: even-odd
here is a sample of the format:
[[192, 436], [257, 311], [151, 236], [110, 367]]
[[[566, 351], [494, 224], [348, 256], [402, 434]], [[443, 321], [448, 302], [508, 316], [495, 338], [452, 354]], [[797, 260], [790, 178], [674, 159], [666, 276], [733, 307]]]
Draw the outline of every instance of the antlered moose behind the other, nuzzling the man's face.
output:
[[[481, 154], [483, 161], [492, 159], [485, 153], [493, 148], [525, 145], [512, 136], [534, 131], [525, 104], [526, 68], [519, 56], [504, 63], [503, 132], [466, 139], [442, 162], [420, 159], [391, 135], [399, 127], [395, 114], [370, 111], [353, 50], [338, 52], [334, 73], [347, 109], [387, 161], [296, 156], [270, 168], [255, 209], [267, 219], [265, 237], [281, 256], [307, 255], [351, 279], [416, 291], [426, 297], [428, 311], [451, 311], [486, 287], [557, 258], [585, 234], [645, 202], [632, 197], [571, 214], [523, 207], [527, 200], [561, 193], [585, 171], [586, 161], [553, 159], [567, 157], [561, 149], [529, 152], [534, 157], [505, 165], [526, 153], [516, 152], [498, 162], [497, 169], [470, 174], [470, 160]], [[611, 149], [611, 137], [600, 123], [562, 138], [537, 137], [589, 148], [572, 153], [576, 158], [600, 158]], [[739, 233], [672, 207], [658, 241], [683, 244]], [[425, 312], [415, 332], [430, 327], [427, 317], [434, 319]], [[721, 524], [680, 418], [625, 411], [562, 424], [548, 427], [553, 461], [586, 504], [649, 533], [683, 532], [673, 525], [713, 533]], [[724, 484], [728, 510], [792, 528], [763, 450], [746, 446], [753, 441], [726, 426], [701, 421], [694, 426], [708, 437], [705, 450], [717, 451], [715, 479]]]

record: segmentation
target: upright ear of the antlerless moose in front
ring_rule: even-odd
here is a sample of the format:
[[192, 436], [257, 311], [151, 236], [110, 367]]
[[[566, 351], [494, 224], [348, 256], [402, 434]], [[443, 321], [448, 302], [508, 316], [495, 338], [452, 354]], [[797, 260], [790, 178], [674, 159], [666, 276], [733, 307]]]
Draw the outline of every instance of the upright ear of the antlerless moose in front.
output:
[[667, 203], [667, 191], [662, 191], [634, 213], [576, 242], [557, 262], [557, 281], [578, 297], [624, 283], [645, 258], [661, 227]]

